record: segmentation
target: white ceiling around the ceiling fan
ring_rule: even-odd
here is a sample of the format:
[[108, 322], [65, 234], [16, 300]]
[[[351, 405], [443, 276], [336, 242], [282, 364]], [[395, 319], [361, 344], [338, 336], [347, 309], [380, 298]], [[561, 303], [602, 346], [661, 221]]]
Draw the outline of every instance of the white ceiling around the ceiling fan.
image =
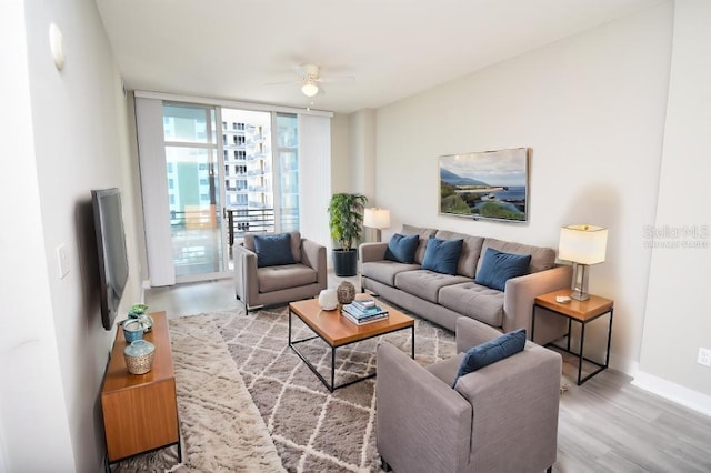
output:
[[[661, 0], [97, 0], [129, 89], [350, 113]], [[293, 67], [314, 63], [307, 98]]]

